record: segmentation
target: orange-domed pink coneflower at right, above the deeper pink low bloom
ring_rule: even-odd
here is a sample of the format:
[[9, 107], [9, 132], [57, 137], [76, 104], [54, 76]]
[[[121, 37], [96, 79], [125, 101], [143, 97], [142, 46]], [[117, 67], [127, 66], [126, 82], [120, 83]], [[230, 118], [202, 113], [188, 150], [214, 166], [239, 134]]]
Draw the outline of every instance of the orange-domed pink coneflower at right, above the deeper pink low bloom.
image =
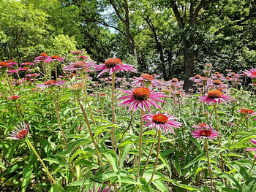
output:
[[213, 104], [213, 103], [221, 103], [230, 101], [231, 96], [225, 96], [222, 94], [219, 90], [212, 90], [208, 92], [207, 96], [200, 96], [200, 99], [198, 101], [203, 102], [205, 104]]

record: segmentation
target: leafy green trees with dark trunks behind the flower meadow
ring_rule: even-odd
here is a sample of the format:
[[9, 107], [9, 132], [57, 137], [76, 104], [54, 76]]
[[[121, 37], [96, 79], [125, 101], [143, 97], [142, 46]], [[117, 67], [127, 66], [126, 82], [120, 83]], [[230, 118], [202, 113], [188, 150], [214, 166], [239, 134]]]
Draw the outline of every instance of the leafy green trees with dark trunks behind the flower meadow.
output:
[[188, 78], [206, 63], [219, 72], [256, 60], [253, 0], [0, 0], [0, 58], [86, 50], [116, 56], [139, 72]]

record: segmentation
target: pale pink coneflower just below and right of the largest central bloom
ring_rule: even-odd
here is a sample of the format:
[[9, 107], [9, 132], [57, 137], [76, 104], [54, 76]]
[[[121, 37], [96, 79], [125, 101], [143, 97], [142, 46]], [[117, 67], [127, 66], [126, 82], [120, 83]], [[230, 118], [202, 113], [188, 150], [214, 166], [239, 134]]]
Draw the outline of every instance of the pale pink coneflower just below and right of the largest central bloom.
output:
[[168, 113], [165, 112], [165, 114], [160, 114], [157, 112], [155, 115], [153, 113], [147, 114], [143, 116], [144, 121], [149, 121], [145, 126], [148, 126], [148, 128], [157, 128], [157, 130], [164, 129], [165, 133], [167, 134], [167, 130], [170, 130], [173, 134], [173, 127], [179, 128], [182, 126], [182, 123], [179, 123], [176, 121], [178, 118], [174, 118], [173, 115], [167, 115]]

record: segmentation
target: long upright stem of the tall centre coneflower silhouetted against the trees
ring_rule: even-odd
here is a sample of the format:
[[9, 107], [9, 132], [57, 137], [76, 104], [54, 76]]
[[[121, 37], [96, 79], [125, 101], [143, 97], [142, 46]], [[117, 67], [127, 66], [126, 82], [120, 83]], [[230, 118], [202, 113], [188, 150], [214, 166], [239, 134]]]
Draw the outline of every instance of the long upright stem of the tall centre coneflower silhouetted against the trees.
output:
[[[112, 104], [111, 104], [111, 108], [112, 108], [112, 123], [115, 124], [116, 123], [116, 114], [115, 114], [115, 77], [116, 77], [116, 72], [114, 71], [113, 74], [111, 74], [112, 77]], [[115, 131], [115, 127], [112, 127], [111, 129], [111, 143], [112, 143], [112, 149], [115, 149], [115, 142], [116, 142], [116, 136], [114, 134]]]

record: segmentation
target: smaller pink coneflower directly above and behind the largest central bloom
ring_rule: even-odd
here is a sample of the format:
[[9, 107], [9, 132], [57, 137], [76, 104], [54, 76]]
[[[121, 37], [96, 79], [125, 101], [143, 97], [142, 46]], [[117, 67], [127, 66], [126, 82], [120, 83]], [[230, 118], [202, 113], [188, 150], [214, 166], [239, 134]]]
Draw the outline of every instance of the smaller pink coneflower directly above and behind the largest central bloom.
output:
[[135, 77], [135, 80], [132, 81], [132, 85], [134, 85], [135, 87], [141, 87], [141, 86], [159, 86], [162, 85], [162, 82], [159, 82], [158, 80], [156, 80], [153, 76], [151, 76], [150, 74], [141, 74], [140, 77]]

